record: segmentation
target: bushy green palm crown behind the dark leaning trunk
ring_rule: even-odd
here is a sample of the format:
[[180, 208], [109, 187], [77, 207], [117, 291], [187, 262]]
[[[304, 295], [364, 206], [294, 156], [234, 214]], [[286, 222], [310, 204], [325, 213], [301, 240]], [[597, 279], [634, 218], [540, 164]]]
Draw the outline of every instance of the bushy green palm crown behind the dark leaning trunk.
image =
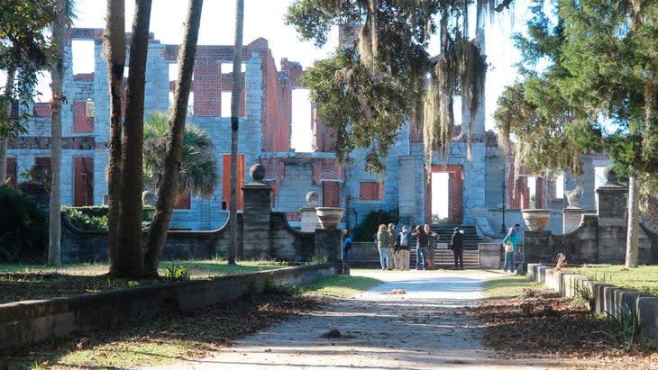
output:
[[[151, 113], [144, 121], [144, 185], [157, 189], [163, 180], [169, 116]], [[212, 196], [219, 181], [215, 145], [206, 131], [186, 123], [178, 194]]]

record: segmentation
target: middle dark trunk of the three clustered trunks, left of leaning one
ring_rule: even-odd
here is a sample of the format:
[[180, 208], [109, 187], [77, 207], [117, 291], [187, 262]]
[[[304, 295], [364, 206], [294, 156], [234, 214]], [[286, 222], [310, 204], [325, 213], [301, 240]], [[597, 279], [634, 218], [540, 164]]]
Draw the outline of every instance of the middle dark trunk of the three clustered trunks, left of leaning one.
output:
[[130, 43], [130, 74], [126, 90], [125, 121], [122, 133], [120, 218], [114, 266], [116, 277], [144, 274], [142, 248], [142, 149], [144, 131], [144, 85], [146, 56], [149, 49], [151, 0], [135, 2]]

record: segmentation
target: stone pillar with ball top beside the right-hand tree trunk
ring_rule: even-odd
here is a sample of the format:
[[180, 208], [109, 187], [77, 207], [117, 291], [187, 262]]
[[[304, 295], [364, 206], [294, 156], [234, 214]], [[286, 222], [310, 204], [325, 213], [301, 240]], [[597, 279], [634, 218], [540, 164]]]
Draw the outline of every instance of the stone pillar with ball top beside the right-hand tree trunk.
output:
[[606, 185], [597, 189], [599, 213], [599, 264], [620, 264], [626, 260], [628, 188], [617, 185], [617, 176], [606, 170]]

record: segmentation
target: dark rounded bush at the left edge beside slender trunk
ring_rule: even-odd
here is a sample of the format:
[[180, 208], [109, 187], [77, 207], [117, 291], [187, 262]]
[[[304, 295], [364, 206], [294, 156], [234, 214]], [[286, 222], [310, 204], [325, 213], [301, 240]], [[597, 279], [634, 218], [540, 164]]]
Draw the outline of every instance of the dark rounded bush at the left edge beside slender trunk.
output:
[[0, 185], [0, 262], [44, 263], [48, 218], [32, 197]]

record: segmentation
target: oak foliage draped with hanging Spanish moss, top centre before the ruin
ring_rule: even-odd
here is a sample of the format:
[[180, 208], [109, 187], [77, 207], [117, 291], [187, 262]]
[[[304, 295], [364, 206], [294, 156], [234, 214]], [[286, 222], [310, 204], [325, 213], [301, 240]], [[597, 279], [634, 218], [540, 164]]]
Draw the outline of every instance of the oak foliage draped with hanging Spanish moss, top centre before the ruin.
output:
[[[480, 109], [487, 68], [480, 50], [483, 15], [510, 3], [297, 0], [291, 5], [286, 22], [301, 38], [323, 45], [333, 26], [347, 35], [333, 58], [316, 63], [304, 77], [320, 118], [334, 131], [337, 157], [349, 160], [353, 149], [367, 149], [366, 169], [383, 171], [388, 149], [407, 120], [422, 127], [427, 166], [436, 150], [445, 158], [455, 96], [473, 113], [470, 120]], [[471, 5], [477, 12], [476, 39], [468, 37]], [[358, 35], [352, 42], [354, 30]], [[441, 52], [432, 59], [427, 49], [436, 33]], [[470, 140], [472, 122], [467, 123]]]

